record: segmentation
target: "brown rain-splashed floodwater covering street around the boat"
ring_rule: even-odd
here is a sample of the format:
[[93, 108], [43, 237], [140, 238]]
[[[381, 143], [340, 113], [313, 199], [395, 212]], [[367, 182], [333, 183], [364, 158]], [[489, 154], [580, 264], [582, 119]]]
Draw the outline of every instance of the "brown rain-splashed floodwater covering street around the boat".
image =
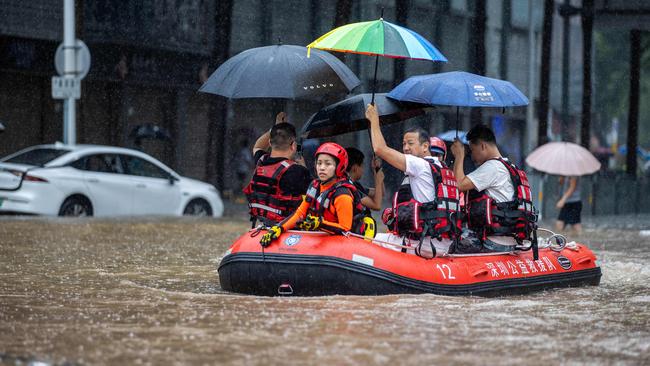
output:
[[650, 234], [588, 228], [601, 285], [502, 298], [223, 292], [241, 220], [0, 218], [0, 363], [650, 364]]

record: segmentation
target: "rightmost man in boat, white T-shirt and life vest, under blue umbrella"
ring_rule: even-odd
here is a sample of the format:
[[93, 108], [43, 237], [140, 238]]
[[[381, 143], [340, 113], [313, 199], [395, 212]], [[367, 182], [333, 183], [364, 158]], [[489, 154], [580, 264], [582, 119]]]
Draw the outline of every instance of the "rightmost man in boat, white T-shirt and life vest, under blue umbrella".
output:
[[510, 252], [523, 240], [536, 244], [537, 216], [526, 173], [501, 156], [494, 132], [477, 125], [467, 133], [472, 160], [479, 166], [465, 175], [465, 146], [451, 146], [458, 188], [467, 194], [468, 227], [457, 253]]

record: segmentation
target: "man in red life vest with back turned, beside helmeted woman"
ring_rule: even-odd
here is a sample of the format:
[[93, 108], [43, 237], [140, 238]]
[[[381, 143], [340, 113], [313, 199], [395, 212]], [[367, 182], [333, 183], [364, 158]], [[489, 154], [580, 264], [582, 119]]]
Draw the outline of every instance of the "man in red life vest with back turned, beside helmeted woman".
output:
[[298, 149], [296, 129], [286, 121], [286, 114], [278, 113], [273, 128], [253, 146], [255, 172], [244, 188], [253, 227], [257, 220], [272, 226], [291, 215], [311, 181], [309, 170], [293, 160]]

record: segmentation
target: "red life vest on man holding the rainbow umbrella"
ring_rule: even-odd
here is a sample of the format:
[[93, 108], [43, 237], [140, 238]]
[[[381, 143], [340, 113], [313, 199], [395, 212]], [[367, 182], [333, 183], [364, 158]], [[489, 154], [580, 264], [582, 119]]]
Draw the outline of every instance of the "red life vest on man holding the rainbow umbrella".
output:
[[411, 184], [405, 176], [402, 185], [393, 196], [394, 220], [392, 230], [400, 236], [422, 239], [431, 236], [438, 239], [455, 239], [461, 232], [458, 183], [454, 172], [444, 163], [426, 159], [436, 197], [431, 202], [419, 202], [413, 198]]

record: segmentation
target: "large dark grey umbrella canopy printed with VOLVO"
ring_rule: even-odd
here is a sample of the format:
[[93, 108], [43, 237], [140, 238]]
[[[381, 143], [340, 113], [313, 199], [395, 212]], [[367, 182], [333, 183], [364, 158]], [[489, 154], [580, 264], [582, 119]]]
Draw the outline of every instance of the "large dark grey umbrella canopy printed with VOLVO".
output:
[[333, 55], [303, 46], [276, 45], [246, 50], [224, 62], [199, 91], [226, 98], [319, 99], [361, 84]]

